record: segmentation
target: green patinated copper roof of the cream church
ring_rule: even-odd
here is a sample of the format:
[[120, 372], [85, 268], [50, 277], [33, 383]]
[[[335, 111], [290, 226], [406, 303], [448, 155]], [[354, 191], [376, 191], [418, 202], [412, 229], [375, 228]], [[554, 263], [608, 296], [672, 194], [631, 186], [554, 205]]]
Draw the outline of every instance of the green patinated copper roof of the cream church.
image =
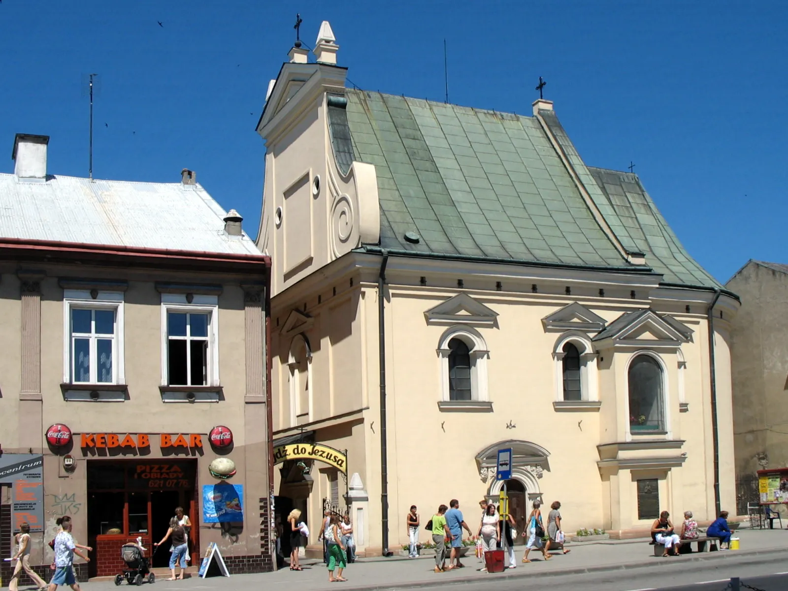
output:
[[[641, 272], [650, 266], [667, 283], [717, 286], [645, 191], [626, 212], [608, 195], [595, 179], [599, 169], [585, 167], [552, 111], [540, 114], [560, 150], [619, 242], [645, 253], [646, 267], [627, 263], [616, 249], [535, 117], [363, 90], [348, 89], [346, 97], [329, 101], [333, 150], [345, 172], [353, 160], [375, 164], [381, 248]], [[638, 224], [649, 232], [630, 227], [633, 209], [650, 216]], [[660, 257], [653, 256], [652, 236]]]

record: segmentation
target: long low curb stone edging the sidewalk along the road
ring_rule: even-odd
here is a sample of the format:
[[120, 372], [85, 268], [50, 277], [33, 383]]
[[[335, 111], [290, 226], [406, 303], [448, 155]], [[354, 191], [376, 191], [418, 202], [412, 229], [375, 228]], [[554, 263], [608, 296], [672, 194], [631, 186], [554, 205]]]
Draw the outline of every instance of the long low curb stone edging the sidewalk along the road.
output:
[[[785, 554], [788, 552], [786, 548], [770, 548], [770, 549], [761, 549], [761, 550], [735, 550], [731, 552], [695, 552], [695, 554], [712, 554], [712, 556], [687, 556], [685, 560], [682, 562], [701, 562], [701, 561], [709, 561], [709, 560], [727, 560], [728, 558], [736, 558], [737, 556], [761, 556], [761, 555], [774, 555], [774, 554]], [[719, 556], [717, 556], [719, 555]], [[651, 557], [649, 556], [649, 559]], [[433, 579], [425, 579], [422, 581], [410, 581], [404, 583], [393, 583], [393, 584], [378, 584], [378, 585], [358, 585], [355, 587], [343, 587], [343, 589], [348, 589], [348, 591], [384, 591], [385, 589], [424, 589], [424, 588], [431, 588], [431, 587], [444, 587], [447, 585], [469, 585], [472, 583], [480, 583], [480, 582], [491, 582], [492, 580], [500, 580], [500, 579], [517, 579], [517, 578], [525, 578], [525, 577], [560, 577], [560, 576], [571, 576], [572, 574], [591, 574], [591, 573], [600, 573], [605, 571], [631, 571], [637, 568], [648, 568], [654, 567], [656, 565], [669, 565], [669, 564], [676, 564], [678, 560], [644, 560], [643, 562], [638, 563], [629, 563], [629, 564], [604, 564], [600, 565], [599, 567], [574, 567], [574, 568], [566, 568], [559, 571], [534, 571], [530, 568], [522, 568], [522, 565], [518, 567], [517, 570], [521, 570], [521, 572], [504, 572], [504, 573], [497, 573], [495, 579], [490, 579], [481, 576], [475, 577], [463, 577], [463, 578], [433, 578]], [[759, 563], [768, 563], [769, 560], [750, 560], [749, 564], [759, 564]], [[522, 572], [524, 571], [524, 572]]]

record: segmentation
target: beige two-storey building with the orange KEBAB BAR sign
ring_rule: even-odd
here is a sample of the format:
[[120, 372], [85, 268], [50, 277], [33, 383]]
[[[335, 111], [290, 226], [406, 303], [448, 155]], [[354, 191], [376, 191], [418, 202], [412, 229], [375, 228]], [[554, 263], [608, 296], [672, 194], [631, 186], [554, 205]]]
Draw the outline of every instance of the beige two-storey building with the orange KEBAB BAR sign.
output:
[[114, 575], [180, 506], [192, 565], [216, 542], [231, 572], [269, 570], [269, 259], [193, 172], [53, 175], [48, 140], [17, 135], [0, 174], [0, 554], [27, 521], [48, 578], [71, 515], [80, 580]]

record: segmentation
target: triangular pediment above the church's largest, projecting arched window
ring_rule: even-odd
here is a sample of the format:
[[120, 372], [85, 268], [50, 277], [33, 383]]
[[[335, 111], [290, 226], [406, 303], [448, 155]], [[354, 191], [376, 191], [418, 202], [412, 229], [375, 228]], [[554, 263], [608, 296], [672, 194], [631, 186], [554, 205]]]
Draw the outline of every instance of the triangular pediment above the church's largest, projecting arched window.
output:
[[594, 341], [613, 345], [651, 345], [678, 347], [692, 340], [693, 330], [673, 316], [659, 315], [651, 309], [626, 312], [613, 320]]

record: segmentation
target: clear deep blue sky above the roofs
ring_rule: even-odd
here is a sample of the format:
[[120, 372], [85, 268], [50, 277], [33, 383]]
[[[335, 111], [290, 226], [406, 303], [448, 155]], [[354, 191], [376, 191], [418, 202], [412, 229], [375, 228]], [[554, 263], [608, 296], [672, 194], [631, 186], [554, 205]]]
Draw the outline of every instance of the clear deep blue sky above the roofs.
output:
[[[94, 175], [191, 168], [258, 228], [269, 79], [332, 24], [359, 87], [529, 113], [545, 98], [587, 164], [635, 163], [689, 253], [727, 281], [788, 262], [788, 2], [54, 2], [0, 4], [0, 144], [50, 135], [52, 174], [87, 176], [84, 78], [98, 72]], [[158, 21], [162, 21], [160, 27]], [[0, 172], [13, 172], [9, 159]]]

